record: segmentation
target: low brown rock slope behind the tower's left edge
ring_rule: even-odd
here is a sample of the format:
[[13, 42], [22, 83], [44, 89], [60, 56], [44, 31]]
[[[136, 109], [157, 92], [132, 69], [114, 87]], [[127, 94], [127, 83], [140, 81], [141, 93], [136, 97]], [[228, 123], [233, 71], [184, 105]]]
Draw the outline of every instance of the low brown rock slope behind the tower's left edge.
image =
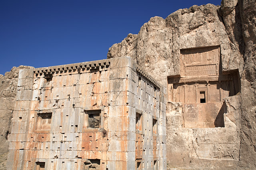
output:
[[0, 74], [0, 169], [5, 169], [5, 160], [9, 147], [8, 135], [11, 130], [11, 118], [16, 101], [16, 89], [19, 70], [33, 68], [30, 66], [13, 67], [3, 76]]

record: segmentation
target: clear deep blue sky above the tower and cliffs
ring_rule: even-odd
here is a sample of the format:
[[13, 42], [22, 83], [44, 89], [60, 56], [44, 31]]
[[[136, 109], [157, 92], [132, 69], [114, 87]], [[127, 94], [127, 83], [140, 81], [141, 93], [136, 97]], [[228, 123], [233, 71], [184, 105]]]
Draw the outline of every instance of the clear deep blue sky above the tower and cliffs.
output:
[[0, 0], [0, 74], [106, 59], [151, 17], [221, 0]]

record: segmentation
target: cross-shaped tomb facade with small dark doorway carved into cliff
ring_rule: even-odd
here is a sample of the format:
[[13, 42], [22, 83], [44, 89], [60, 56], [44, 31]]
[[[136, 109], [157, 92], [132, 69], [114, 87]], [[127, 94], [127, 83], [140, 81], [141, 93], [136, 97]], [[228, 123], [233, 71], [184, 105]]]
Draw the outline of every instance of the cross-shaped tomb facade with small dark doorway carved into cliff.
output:
[[240, 92], [239, 73], [222, 74], [220, 46], [180, 50], [180, 74], [168, 76], [168, 102], [181, 102], [185, 128], [224, 127], [223, 98]]

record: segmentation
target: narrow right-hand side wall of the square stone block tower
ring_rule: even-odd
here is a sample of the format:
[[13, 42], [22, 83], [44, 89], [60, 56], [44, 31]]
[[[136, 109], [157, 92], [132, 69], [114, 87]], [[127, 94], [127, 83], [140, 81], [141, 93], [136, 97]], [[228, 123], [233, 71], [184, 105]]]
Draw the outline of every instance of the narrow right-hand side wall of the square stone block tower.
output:
[[[166, 95], [137, 68], [133, 101], [136, 107], [136, 166], [166, 169]], [[158, 168], [157, 168], [158, 167]]]

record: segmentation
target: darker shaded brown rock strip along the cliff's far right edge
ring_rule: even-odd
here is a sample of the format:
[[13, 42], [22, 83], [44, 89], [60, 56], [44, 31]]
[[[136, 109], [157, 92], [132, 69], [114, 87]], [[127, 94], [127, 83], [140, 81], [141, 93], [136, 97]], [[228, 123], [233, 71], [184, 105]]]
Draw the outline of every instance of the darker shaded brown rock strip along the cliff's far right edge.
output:
[[239, 0], [244, 38], [244, 70], [241, 78], [241, 147], [240, 166], [256, 167], [256, 2]]

